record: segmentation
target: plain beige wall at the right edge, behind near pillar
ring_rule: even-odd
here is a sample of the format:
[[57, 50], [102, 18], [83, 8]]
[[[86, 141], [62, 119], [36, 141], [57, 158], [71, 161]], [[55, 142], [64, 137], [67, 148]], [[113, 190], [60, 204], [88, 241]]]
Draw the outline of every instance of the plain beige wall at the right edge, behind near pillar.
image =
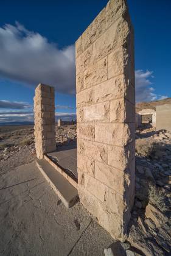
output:
[[171, 105], [156, 106], [156, 130], [171, 132]]

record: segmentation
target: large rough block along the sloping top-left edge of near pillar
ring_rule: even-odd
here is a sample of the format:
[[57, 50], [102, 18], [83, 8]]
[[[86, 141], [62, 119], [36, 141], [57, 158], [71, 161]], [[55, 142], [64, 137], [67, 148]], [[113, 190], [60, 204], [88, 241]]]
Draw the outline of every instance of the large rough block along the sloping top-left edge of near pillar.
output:
[[82, 34], [82, 49], [85, 51], [105, 31], [105, 8], [97, 15]]

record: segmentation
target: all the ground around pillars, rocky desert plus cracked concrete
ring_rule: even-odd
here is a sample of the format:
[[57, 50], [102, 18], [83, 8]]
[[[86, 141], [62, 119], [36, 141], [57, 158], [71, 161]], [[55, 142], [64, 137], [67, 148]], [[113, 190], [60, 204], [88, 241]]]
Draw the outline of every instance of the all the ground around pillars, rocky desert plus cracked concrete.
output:
[[[76, 137], [76, 126], [56, 127], [57, 146]], [[80, 203], [65, 208], [35, 160], [33, 126], [0, 127], [0, 255], [103, 255], [115, 241]], [[128, 238], [114, 255], [170, 255], [170, 188], [171, 133], [144, 126]]]

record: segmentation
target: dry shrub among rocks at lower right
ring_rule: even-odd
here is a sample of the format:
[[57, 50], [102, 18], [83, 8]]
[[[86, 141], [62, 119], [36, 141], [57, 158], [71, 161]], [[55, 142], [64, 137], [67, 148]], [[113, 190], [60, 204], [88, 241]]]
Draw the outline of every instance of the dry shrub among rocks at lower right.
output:
[[165, 202], [164, 193], [152, 184], [148, 187], [148, 202], [155, 205], [159, 210], [161, 210], [161, 212], [169, 210]]

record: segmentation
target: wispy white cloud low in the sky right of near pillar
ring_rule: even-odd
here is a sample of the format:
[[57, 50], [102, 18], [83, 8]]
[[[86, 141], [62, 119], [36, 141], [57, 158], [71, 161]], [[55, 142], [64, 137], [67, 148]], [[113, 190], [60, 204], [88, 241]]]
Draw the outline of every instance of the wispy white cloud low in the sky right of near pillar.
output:
[[167, 98], [167, 96], [155, 93], [155, 88], [152, 86], [153, 77], [153, 71], [143, 71], [142, 69], [135, 71], [136, 102], [148, 102]]

